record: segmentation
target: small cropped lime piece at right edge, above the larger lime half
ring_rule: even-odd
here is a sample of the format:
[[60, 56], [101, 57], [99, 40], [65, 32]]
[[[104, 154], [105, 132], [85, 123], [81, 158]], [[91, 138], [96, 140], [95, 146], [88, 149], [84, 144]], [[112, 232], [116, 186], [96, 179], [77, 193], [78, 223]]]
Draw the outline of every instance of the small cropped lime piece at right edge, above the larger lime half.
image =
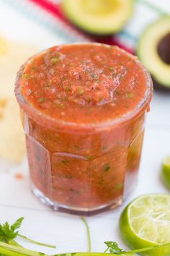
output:
[[161, 177], [168, 189], [170, 189], [170, 156], [164, 159]]

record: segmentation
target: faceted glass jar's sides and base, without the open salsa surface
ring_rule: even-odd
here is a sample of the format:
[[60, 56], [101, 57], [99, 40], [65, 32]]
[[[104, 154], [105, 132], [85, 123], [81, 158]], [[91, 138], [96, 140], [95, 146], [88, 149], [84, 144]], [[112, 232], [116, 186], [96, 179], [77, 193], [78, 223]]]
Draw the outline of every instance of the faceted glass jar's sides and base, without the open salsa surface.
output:
[[91, 215], [115, 208], [138, 179], [151, 77], [143, 103], [110, 122], [73, 126], [35, 111], [24, 100], [19, 76], [16, 96], [21, 108], [32, 191], [54, 210]]

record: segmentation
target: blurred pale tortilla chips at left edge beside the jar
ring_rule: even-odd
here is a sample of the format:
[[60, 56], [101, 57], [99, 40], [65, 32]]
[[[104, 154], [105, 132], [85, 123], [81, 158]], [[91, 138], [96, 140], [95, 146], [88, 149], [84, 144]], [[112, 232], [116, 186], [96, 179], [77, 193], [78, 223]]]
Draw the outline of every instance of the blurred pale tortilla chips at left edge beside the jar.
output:
[[22, 161], [25, 155], [24, 130], [14, 96], [19, 67], [37, 50], [0, 37], [0, 157]]

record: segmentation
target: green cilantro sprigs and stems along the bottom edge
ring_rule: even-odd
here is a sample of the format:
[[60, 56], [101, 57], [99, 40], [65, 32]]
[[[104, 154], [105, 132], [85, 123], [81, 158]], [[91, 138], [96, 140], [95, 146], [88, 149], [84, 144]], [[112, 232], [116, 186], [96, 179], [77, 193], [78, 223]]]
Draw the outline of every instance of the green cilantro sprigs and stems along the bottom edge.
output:
[[142, 249], [135, 249], [133, 251], [125, 251], [119, 247], [117, 242], [104, 242], [107, 245], [107, 249], [104, 252], [91, 252], [91, 239], [89, 233], [88, 223], [84, 218], [81, 217], [81, 220], [84, 222], [86, 226], [86, 231], [88, 234], [89, 241], [89, 252], [71, 252], [71, 253], [62, 253], [55, 255], [46, 255], [42, 252], [36, 252], [31, 249], [26, 249], [18, 244], [14, 239], [17, 237], [21, 237], [22, 239], [26, 239], [28, 242], [33, 242], [34, 244], [39, 244], [47, 247], [54, 247], [49, 244], [42, 244], [40, 242], [36, 242], [32, 239], [27, 238], [27, 236], [23, 236], [19, 234], [19, 228], [22, 225], [22, 221], [24, 218], [19, 218], [15, 221], [11, 226], [8, 222], [4, 223], [4, 225], [0, 224], [0, 256], [109, 256], [109, 255], [128, 255], [135, 256], [135, 253], [146, 252], [151, 249], [161, 249], [163, 247], [168, 247], [170, 250], [169, 244], [160, 244], [153, 247], [146, 247]]

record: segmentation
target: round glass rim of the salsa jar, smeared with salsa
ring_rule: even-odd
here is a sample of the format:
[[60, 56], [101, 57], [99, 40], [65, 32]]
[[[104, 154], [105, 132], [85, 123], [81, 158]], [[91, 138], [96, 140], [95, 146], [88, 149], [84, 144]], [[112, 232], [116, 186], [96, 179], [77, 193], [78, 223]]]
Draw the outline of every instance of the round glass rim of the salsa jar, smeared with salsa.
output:
[[[98, 45], [98, 46], [106, 46], [108, 47], [109, 45], [103, 44], [103, 43], [69, 43], [69, 44], [63, 44], [61, 46], [71, 46], [71, 45]], [[117, 46], [114, 46], [117, 47]], [[117, 47], [118, 48], [118, 47]], [[125, 54], [128, 54], [130, 58], [134, 58], [132, 54], [129, 54], [127, 51], [119, 48], [120, 51], [124, 52]], [[32, 56], [30, 59], [35, 58], [36, 56], [39, 56], [40, 54], [44, 54], [45, 51], [48, 51], [48, 49], [41, 51], [38, 54], [35, 54], [35, 56]], [[137, 118], [140, 116], [140, 114], [143, 114], [144, 111], [148, 108], [151, 98], [153, 96], [153, 82], [151, 80], [151, 75], [149, 74], [148, 70], [143, 66], [143, 64], [140, 63], [138, 59], [136, 59], [136, 64], [138, 64], [139, 67], [141, 67], [141, 70], [143, 70], [143, 74], [145, 74], [146, 77], [146, 93], [145, 97], [143, 97], [143, 100], [140, 101], [138, 106], [133, 108], [132, 111], [129, 111], [128, 113], [118, 116], [115, 119], [109, 120], [109, 121], [100, 121], [100, 122], [95, 122], [90, 123], [90, 124], [84, 124], [84, 123], [76, 123], [76, 122], [70, 122], [70, 121], [61, 121], [58, 119], [53, 118], [52, 116], [48, 116], [43, 114], [40, 110], [32, 106], [29, 102], [26, 101], [24, 98], [24, 95], [21, 93], [21, 77], [24, 72], [24, 68], [27, 66], [27, 63], [30, 61], [28, 59], [24, 65], [19, 69], [19, 72], [17, 73], [17, 80], [15, 82], [15, 95], [17, 98], [17, 101], [19, 103], [20, 108], [27, 114], [27, 116], [30, 116], [33, 120], [35, 120], [37, 123], [42, 124], [42, 126], [50, 127], [50, 128], [56, 128], [58, 127], [61, 129], [78, 129], [82, 130], [85, 129], [86, 131], [88, 130], [103, 130], [103, 129], [108, 129], [109, 127], [115, 127], [118, 124], [123, 124], [128, 121], [131, 121], [132, 119]]]

